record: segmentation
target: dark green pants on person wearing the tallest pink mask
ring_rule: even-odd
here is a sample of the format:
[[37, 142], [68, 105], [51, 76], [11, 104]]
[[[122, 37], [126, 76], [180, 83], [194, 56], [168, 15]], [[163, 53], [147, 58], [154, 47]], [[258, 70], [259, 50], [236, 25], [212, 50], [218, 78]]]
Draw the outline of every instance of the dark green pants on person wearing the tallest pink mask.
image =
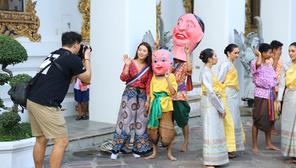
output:
[[187, 101], [173, 100], [174, 111], [172, 113], [173, 122], [176, 120], [178, 127], [183, 128], [189, 120], [190, 106]]

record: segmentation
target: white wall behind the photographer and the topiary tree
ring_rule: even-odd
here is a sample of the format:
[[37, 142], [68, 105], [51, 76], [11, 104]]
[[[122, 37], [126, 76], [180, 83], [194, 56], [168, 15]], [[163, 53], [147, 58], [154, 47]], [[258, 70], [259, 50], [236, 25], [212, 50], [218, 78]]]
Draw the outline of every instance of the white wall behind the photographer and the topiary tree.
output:
[[[62, 47], [62, 14], [71, 15], [71, 31], [81, 32], [82, 26], [82, 14], [79, 11], [77, 5], [79, 0], [52, 0], [38, 1], [35, 10], [36, 16], [40, 19], [40, 27], [38, 34], [41, 34], [40, 42], [32, 42], [28, 37], [17, 37], [18, 40], [28, 52], [28, 60], [24, 63], [17, 64], [15, 66], [9, 65], [7, 69], [12, 70], [13, 75], [27, 73], [32, 77], [35, 76], [41, 62], [49, 55], [50, 52], [58, 50]], [[65, 7], [67, 6], [67, 7]], [[59, 34], [55, 33], [56, 28], [59, 29]], [[0, 73], [4, 73], [0, 71]], [[75, 115], [74, 109], [74, 85], [70, 85], [68, 94], [62, 103], [62, 108], [69, 108], [63, 111], [64, 116]], [[12, 106], [7, 91], [10, 89], [8, 84], [0, 86], [1, 98], [4, 101], [5, 106]], [[1, 109], [1, 112], [5, 110]], [[23, 114], [20, 113], [22, 121], [29, 121], [28, 113], [25, 111]]]

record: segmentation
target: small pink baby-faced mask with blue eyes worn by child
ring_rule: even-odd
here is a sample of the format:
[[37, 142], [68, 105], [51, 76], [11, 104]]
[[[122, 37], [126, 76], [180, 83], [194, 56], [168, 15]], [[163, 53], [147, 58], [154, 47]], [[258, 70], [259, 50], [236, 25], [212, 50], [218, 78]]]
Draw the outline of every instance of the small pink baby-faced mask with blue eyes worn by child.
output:
[[152, 54], [152, 70], [155, 75], [163, 75], [173, 70], [173, 56], [168, 50], [157, 50]]

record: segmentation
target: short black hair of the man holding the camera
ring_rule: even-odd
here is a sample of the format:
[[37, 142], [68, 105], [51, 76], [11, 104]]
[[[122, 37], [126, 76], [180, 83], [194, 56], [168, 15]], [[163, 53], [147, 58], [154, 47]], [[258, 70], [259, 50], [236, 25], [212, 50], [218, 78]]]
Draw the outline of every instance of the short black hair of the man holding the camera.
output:
[[62, 47], [71, 48], [75, 43], [80, 43], [82, 41], [81, 34], [77, 32], [65, 32], [62, 34]]

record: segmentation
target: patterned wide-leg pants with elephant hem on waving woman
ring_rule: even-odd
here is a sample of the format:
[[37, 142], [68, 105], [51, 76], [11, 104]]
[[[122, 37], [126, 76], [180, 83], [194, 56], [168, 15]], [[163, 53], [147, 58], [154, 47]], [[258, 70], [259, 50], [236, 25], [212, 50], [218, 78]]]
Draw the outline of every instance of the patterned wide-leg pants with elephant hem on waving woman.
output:
[[147, 154], [153, 149], [148, 135], [148, 112], [145, 110], [145, 88], [127, 86], [123, 92], [113, 139], [112, 153], [126, 153], [135, 129], [134, 154]]

